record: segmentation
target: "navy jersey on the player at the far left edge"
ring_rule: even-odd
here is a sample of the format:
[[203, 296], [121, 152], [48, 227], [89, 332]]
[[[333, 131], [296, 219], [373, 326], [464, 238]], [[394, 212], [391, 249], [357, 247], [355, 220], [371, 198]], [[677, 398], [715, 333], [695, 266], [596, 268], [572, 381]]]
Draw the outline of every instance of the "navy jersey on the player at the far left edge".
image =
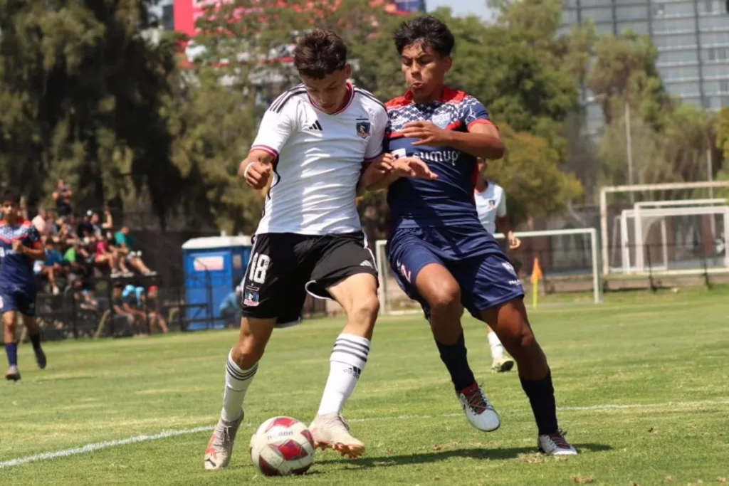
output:
[[33, 260], [13, 250], [12, 242], [20, 240], [23, 246], [40, 248], [40, 239], [36, 227], [26, 219], [20, 219], [16, 224], [0, 221], [0, 289], [34, 291]]

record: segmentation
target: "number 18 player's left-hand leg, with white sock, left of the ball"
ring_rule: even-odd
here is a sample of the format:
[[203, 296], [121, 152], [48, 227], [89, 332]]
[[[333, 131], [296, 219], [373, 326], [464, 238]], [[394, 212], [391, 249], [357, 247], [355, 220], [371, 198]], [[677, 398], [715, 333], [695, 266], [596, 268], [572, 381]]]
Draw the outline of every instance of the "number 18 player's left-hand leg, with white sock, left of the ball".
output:
[[230, 350], [225, 365], [223, 408], [205, 450], [205, 469], [223, 469], [230, 463], [235, 435], [243, 422], [243, 399], [275, 325], [276, 318], [241, 319], [238, 344]]

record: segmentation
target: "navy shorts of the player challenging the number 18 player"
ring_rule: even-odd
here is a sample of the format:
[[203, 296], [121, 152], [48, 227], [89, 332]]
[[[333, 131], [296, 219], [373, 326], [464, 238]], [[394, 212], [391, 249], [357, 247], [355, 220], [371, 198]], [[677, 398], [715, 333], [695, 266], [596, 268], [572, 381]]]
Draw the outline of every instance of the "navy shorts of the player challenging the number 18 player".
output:
[[420, 302], [426, 318], [430, 309], [418, 294], [416, 278], [432, 263], [453, 275], [461, 287], [461, 303], [477, 319], [483, 310], [524, 297], [514, 267], [483, 227], [401, 228], [391, 235], [387, 250], [398, 285]]

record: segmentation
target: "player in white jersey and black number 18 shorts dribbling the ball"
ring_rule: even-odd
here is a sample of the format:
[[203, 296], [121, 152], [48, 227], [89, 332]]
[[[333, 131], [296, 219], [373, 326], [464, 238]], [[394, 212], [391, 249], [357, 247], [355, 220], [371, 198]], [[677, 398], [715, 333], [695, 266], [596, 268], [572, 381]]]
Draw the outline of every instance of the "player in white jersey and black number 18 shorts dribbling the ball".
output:
[[[384, 105], [348, 83], [347, 48], [336, 34], [313, 31], [297, 44], [295, 66], [303, 84], [266, 111], [239, 173], [263, 189], [272, 179], [241, 282], [238, 344], [230, 350], [220, 419], [205, 451], [205, 468], [230, 462], [243, 420], [243, 397], [276, 324], [300, 318], [306, 294], [335, 299], [347, 324], [335, 341], [330, 374], [316, 418], [313, 442], [356, 457], [364, 444], [349, 433], [340, 412], [367, 363], [379, 303], [375, 259], [362, 233], [355, 197], [367, 187], [363, 162], [382, 171], [418, 171], [383, 155]], [[420, 176], [424, 162], [411, 160]], [[408, 162], [409, 163], [409, 162]], [[378, 176], [377, 170], [367, 174]], [[360, 178], [362, 176], [362, 181]], [[359, 185], [358, 185], [359, 182]]]

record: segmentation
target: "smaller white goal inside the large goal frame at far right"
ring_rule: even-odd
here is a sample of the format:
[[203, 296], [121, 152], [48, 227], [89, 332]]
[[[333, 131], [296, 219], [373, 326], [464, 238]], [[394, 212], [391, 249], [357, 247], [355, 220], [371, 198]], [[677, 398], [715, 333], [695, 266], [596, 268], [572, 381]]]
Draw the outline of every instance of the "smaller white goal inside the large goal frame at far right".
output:
[[[695, 275], [729, 271], [726, 200], [636, 203], [620, 213], [620, 268], [626, 275]], [[709, 204], [721, 205], [709, 205]]]

